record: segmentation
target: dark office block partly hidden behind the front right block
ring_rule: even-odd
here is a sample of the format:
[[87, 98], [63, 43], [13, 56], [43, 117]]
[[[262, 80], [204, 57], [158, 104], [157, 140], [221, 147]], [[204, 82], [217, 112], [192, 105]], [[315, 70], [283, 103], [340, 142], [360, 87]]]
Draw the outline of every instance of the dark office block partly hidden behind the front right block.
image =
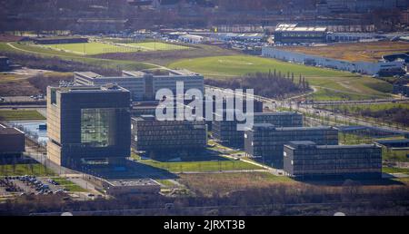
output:
[[338, 144], [338, 131], [333, 127], [284, 127], [271, 123], [254, 123], [244, 132], [244, 150], [248, 157], [283, 167], [283, 149], [288, 141], [314, 141], [317, 144]]

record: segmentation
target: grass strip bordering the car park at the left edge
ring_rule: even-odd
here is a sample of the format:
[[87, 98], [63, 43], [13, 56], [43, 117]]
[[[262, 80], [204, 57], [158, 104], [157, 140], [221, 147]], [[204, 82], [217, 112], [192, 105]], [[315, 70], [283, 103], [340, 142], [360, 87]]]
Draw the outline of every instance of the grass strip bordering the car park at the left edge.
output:
[[13, 165], [0, 165], [1, 176], [21, 176], [21, 175], [35, 175], [35, 176], [53, 176], [55, 173], [49, 169], [45, 169], [43, 164], [16, 164], [15, 169]]

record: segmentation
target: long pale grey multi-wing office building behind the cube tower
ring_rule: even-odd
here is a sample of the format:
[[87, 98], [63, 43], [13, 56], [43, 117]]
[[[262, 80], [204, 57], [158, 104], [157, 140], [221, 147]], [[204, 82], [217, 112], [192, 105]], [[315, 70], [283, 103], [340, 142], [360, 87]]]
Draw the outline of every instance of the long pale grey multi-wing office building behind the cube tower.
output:
[[169, 70], [162, 74], [123, 71], [122, 76], [105, 77], [97, 73], [75, 73], [75, 85], [104, 85], [116, 83], [129, 90], [133, 101], [152, 101], [160, 89], [170, 89], [176, 94], [176, 82], [184, 83], [184, 92], [198, 89], [204, 93], [204, 77], [187, 70]]

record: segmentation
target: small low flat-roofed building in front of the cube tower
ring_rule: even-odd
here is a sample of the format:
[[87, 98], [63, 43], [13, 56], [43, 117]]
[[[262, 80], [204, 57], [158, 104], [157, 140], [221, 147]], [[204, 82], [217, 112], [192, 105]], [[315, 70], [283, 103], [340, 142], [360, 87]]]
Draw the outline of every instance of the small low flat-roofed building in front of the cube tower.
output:
[[161, 185], [151, 179], [105, 180], [103, 188], [106, 194], [116, 197], [132, 194], [158, 194]]

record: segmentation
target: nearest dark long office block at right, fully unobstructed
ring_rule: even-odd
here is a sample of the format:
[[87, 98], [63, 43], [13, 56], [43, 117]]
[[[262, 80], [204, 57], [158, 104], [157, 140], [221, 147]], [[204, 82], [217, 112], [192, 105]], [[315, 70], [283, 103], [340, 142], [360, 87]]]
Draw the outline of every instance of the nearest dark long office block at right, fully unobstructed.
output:
[[284, 171], [298, 178], [382, 177], [382, 150], [374, 144], [317, 145], [290, 141], [284, 145]]

